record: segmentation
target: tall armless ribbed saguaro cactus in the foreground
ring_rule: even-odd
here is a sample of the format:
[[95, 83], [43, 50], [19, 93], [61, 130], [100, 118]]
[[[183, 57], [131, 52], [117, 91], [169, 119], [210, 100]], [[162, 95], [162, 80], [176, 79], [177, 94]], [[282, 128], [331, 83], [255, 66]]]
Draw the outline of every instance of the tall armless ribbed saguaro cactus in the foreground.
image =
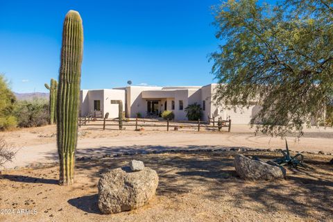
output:
[[60, 159], [60, 185], [74, 183], [82, 57], [82, 20], [78, 12], [70, 10], [65, 17], [62, 29], [58, 85], [57, 144]]

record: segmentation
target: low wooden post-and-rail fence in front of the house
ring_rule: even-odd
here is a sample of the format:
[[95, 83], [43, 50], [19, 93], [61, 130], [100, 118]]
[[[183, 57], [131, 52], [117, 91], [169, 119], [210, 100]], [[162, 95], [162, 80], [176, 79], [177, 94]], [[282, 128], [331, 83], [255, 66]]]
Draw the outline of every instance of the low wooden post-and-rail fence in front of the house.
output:
[[[211, 118], [213, 119], [213, 118]], [[78, 118], [78, 125], [79, 126], [101, 126], [103, 130], [107, 126], [133, 126], [135, 127], [135, 130], [141, 130], [143, 127], [163, 127], [167, 128], [167, 131], [169, 131], [169, 128], [174, 128], [174, 130], [178, 130], [179, 128], [196, 128], [198, 131], [200, 131], [200, 128], [217, 128], [219, 131], [221, 131], [221, 128], [227, 128], [228, 132], [231, 130], [231, 119], [229, 120], [221, 120], [213, 121], [210, 118], [208, 121], [189, 121], [189, 120], [153, 120], [153, 119], [144, 119], [144, 118], [136, 118], [136, 119], [106, 119], [106, 118], [96, 118], [94, 115], [90, 114], [86, 117], [79, 117]], [[103, 121], [103, 123], [94, 123], [98, 121]], [[90, 123], [92, 122], [92, 123]]]

